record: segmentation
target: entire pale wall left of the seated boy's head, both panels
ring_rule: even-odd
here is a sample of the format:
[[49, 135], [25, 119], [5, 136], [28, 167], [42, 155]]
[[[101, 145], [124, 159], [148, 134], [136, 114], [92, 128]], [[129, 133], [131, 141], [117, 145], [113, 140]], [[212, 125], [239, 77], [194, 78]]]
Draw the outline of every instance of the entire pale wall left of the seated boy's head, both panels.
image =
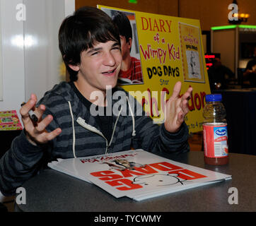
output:
[[[24, 4], [25, 20], [16, 6]], [[42, 97], [59, 81], [62, 58], [59, 25], [74, 12], [74, 0], [1, 0], [1, 58], [3, 101], [0, 111], [21, 107], [31, 93]]]

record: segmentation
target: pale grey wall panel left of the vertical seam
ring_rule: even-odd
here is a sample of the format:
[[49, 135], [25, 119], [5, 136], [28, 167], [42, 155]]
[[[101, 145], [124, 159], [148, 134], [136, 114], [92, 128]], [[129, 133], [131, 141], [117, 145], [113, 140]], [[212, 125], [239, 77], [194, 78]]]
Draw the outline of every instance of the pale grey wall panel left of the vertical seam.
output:
[[[1, 65], [3, 100], [0, 110], [17, 109], [25, 100], [24, 48], [14, 44], [23, 37], [23, 22], [16, 20], [16, 6], [22, 0], [1, 0]], [[18, 36], [22, 35], [22, 36]]]

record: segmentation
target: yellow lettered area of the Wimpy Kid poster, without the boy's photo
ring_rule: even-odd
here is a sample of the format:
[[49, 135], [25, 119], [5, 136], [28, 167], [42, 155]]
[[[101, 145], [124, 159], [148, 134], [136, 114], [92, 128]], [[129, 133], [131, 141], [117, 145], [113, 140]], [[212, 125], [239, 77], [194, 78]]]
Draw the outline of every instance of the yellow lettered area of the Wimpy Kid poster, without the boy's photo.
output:
[[163, 122], [163, 103], [173, 93], [175, 83], [182, 82], [181, 95], [192, 86], [190, 112], [185, 122], [191, 133], [202, 131], [205, 95], [211, 90], [199, 20], [110, 6], [98, 5], [98, 8], [110, 16], [115, 11], [132, 13], [136, 20], [136, 41], [144, 83], [120, 86], [136, 97], [145, 112], [159, 124]]

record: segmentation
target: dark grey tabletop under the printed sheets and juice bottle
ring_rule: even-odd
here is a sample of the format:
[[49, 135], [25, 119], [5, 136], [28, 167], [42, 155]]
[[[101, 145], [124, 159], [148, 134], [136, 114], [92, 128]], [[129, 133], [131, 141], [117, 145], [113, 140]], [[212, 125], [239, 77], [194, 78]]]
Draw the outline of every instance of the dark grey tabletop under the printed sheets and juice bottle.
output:
[[[228, 165], [204, 164], [202, 151], [163, 157], [185, 164], [231, 174], [226, 182], [209, 184], [173, 194], [133, 201], [115, 198], [94, 184], [83, 182], [53, 169], [23, 184], [26, 204], [16, 204], [19, 211], [89, 211], [89, 212], [169, 212], [169, 211], [256, 211], [256, 156], [231, 153]], [[228, 189], [238, 189], [238, 204], [229, 204]]]

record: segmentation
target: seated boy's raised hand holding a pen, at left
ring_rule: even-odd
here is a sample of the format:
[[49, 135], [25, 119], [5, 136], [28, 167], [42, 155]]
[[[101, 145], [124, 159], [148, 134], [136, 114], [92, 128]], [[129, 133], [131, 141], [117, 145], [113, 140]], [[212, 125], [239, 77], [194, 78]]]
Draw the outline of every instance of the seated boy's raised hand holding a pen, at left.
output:
[[[45, 112], [45, 105], [40, 105], [36, 108], [36, 102], [37, 96], [35, 94], [32, 94], [30, 100], [28, 100], [28, 102], [23, 105], [23, 107], [21, 107], [20, 113], [28, 141], [30, 141], [30, 143], [33, 143], [33, 145], [40, 145], [54, 139], [56, 136], [62, 133], [62, 129], [57, 128], [50, 133], [47, 132], [45, 128], [50, 124], [53, 117], [49, 114], [47, 115], [47, 117], [45, 117], [45, 119], [42, 119], [42, 114]], [[33, 111], [37, 115], [37, 123], [34, 123], [32, 119], [30, 119], [30, 116], [28, 114], [30, 109], [33, 109]]]

